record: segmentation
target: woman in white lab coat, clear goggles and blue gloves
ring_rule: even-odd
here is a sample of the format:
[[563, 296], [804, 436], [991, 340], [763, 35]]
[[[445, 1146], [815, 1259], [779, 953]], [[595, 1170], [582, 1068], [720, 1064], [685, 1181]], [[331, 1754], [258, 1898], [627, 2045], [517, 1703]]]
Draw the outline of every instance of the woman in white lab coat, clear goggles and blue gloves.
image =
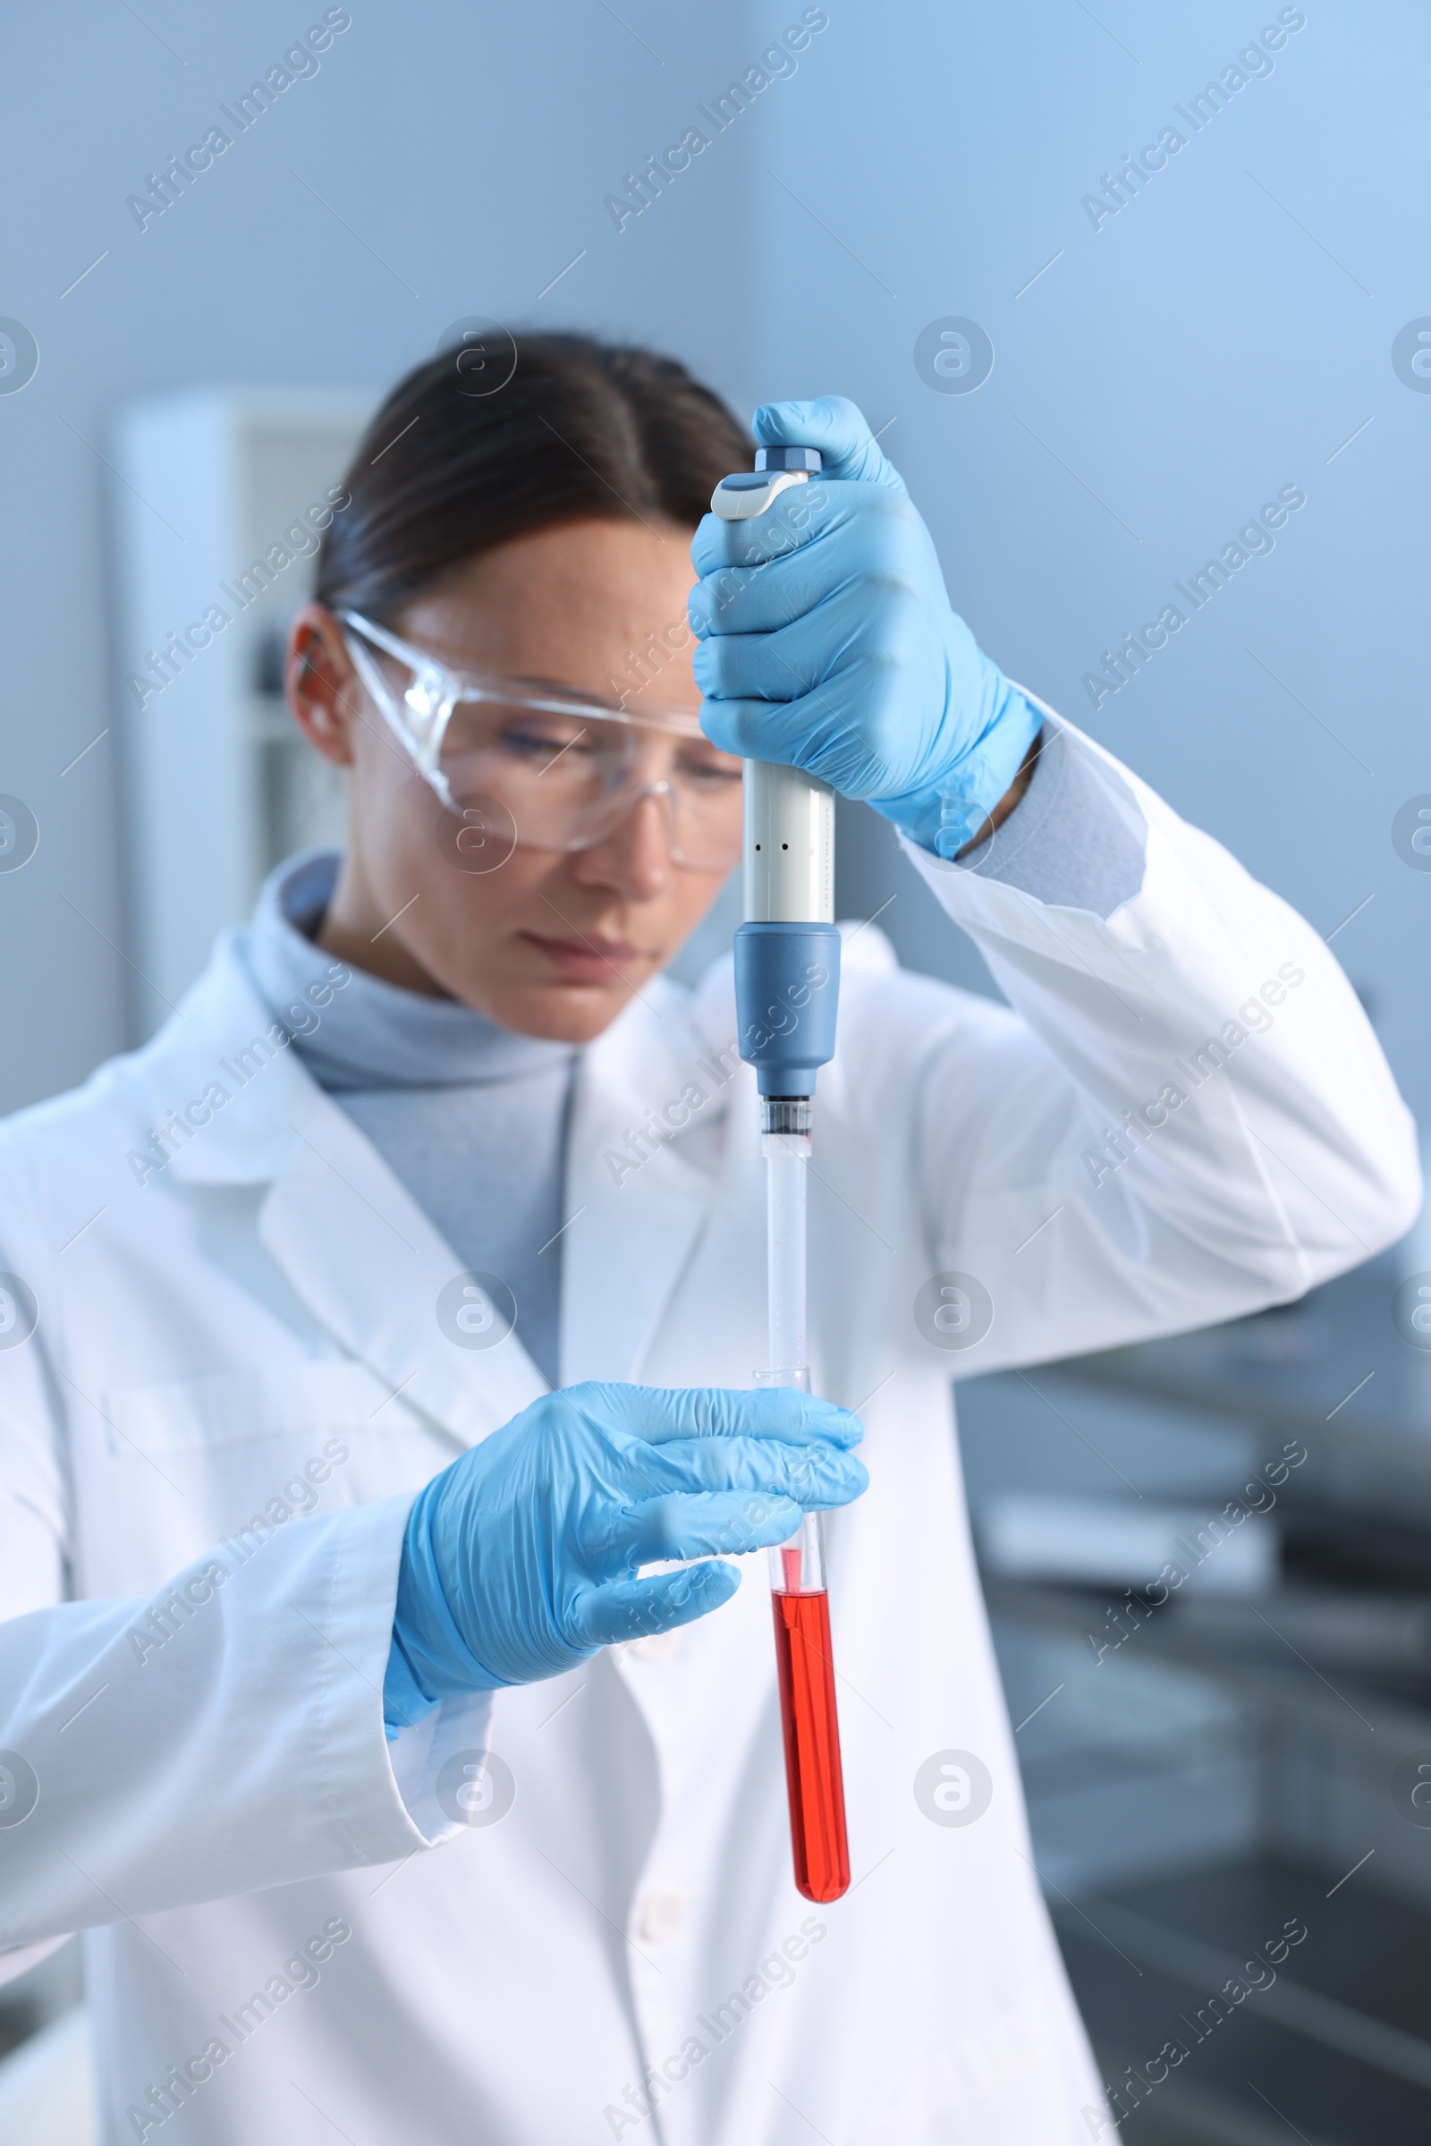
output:
[[[1315, 931], [980, 655], [852, 403], [757, 412], [826, 468], [764, 556], [678, 365], [530, 337], [463, 386], [388, 399], [292, 631], [348, 848], [0, 1135], [6, 1966], [88, 1931], [105, 2146], [1073, 2146], [950, 1371], [1364, 1260], [1407, 1114]], [[1008, 998], [850, 942], [822, 1401], [742, 1391], [753, 1077], [729, 961], [661, 976], [747, 751], [892, 820]], [[719, 1556], [796, 1504], [841, 1509], [817, 1912]]]

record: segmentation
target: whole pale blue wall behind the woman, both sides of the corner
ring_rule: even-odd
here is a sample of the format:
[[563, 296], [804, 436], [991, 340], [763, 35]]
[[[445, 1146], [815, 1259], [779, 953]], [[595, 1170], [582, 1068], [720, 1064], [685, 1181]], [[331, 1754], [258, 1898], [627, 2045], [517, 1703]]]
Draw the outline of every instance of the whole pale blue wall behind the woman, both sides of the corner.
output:
[[[1431, 792], [1431, 395], [1388, 352], [1431, 313], [1425, 11], [1309, 6], [1270, 79], [1094, 232], [1079, 197], [1274, 6], [1103, 0], [1094, 21], [1064, 0], [832, 0], [798, 75], [618, 234], [603, 195], [796, 21], [794, 0], [622, 0], [629, 28], [577, 4], [358, 4], [322, 73], [139, 234], [127, 193], [320, 13], [152, 0], [150, 32], [79, 0], [9, 28], [0, 159], [26, 212], [0, 313], [34, 330], [41, 369], [0, 397], [0, 790], [32, 803], [43, 841], [0, 876], [0, 1105], [122, 1039], [122, 961], [92, 929], [122, 942], [114, 740], [60, 777], [112, 715], [105, 470], [84, 440], [103, 446], [118, 401], [182, 382], [380, 386], [466, 311], [648, 335], [742, 408], [841, 388], [897, 418], [886, 444], [1000, 661], [1322, 929], [1375, 895], [1337, 951], [1422, 1101], [1431, 876], [1399, 863], [1390, 820]], [[916, 335], [948, 313], [993, 337], [970, 397], [914, 371]], [[1094, 712], [1079, 676], [1109, 635], [1156, 616], [1283, 483], [1309, 504], [1277, 552]], [[903, 884], [854, 822], [845, 861], [847, 891]], [[905, 957], [976, 979], [908, 886], [884, 921]]]

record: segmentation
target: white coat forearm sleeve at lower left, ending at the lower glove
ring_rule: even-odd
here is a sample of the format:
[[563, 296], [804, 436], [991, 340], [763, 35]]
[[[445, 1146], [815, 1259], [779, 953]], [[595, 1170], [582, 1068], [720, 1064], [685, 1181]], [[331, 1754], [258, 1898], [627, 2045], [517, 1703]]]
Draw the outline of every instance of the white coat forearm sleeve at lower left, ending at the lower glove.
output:
[[223, 1541], [148, 1603], [0, 1625], [0, 1747], [32, 1785], [0, 1831], [0, 1944], [429, 1846], [382, 1732], [410, 1504]]

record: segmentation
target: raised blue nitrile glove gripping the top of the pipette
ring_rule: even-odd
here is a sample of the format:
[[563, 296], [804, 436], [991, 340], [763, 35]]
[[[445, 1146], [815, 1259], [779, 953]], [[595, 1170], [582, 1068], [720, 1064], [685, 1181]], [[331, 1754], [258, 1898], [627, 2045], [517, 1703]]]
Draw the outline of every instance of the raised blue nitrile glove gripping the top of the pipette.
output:
[[955, 856], [1013, 783], [1041, 717], [950, 609], [929, 530], [852, 401], [764, 403], [755, 438], [817, 446], [824, 474], [764, 515], [706, 515], [695, 532], [706, 734], [820, 775]]

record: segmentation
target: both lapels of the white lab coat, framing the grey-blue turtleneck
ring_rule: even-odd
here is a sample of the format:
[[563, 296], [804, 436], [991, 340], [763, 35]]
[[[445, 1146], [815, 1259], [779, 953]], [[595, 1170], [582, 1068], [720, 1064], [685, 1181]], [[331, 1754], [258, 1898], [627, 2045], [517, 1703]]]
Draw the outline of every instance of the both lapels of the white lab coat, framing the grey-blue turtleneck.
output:
[[[215, 1058], [236, 1064], [272, 1019], [227, 940], [182, 1015], [152, 1047], [157, 1097], [202, 1092]], [[566, 1142], [564, 1384], [641, 1376], [717, 1197], [729, 1097], [744, 1097], [753, 1122], [732, 1024], [727, 979], [693, 1002], [657, 976], [584, 1054]], [[669, 1137], [652, 1140], [652, 1122]], [[313, 1318], [461, 1444], [547, 1391], [517, 1335], [491, 1350], [446, 1339], [438, 1296], [461, 1262], [292, 1049], [172, 1167], [195, 1185], [266, 1180], [262, 1240]]]

